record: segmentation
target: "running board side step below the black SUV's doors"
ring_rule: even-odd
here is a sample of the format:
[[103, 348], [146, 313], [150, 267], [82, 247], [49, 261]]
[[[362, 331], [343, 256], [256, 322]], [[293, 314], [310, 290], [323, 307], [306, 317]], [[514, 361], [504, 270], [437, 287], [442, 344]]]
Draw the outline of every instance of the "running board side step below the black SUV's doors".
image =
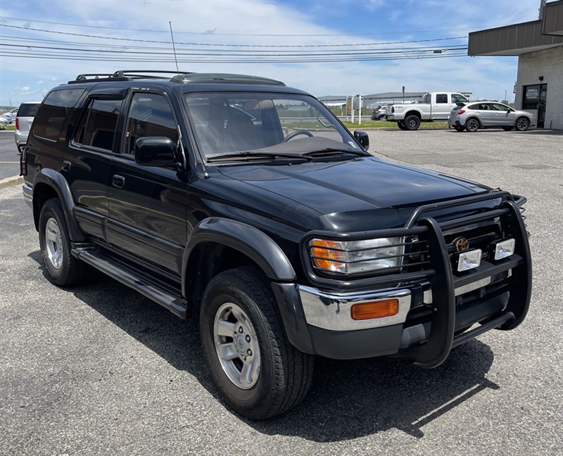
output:
[[96, 248], [80, 246], [72, 248], [71, 252], [76, 258], [138, 291], [178, 317], [186, 318], [186, 302], [179, 290], [148, 276], [145, 272], [113, 260], [109, 255], [103, 255]]

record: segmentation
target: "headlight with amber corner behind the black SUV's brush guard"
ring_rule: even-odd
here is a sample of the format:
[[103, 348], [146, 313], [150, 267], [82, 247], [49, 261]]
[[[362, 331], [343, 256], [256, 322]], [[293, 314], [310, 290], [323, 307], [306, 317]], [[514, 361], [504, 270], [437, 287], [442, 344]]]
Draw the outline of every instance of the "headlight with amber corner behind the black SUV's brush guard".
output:
[[331, 241], [311, 239], [308, 243], [313, 266], [317, 270], [341, 274], [362, 274], [390, 270], [403, 264], [403, 238]]

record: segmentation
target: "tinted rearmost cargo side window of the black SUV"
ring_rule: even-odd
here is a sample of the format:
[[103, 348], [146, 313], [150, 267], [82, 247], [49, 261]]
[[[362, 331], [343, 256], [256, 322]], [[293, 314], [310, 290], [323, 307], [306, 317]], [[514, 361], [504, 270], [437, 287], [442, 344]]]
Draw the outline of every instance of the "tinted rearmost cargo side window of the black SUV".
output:
[[56, 141], [69, 111], [76, 105], [83, 92], [84, 89], [51, 91], [42, 108], [37, 111], [37, 118], [33, 123], [34, 136]]

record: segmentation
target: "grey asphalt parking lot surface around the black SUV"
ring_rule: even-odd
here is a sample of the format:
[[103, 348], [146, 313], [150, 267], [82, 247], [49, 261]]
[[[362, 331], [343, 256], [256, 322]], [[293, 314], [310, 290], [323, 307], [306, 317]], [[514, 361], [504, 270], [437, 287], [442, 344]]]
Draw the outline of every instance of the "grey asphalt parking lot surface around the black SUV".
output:
[[[377, 130], [377, 156], [523, 194], [529, 316], [436, 369], [317, 359], [309, 395], [233, 414], [196, 326], [112, 279], [58, 289], [19, 186], [0, 189], [2, 455], [555, 455], [563, 448], [563, 134]], [[369, 189], [366, 189], [369, 191]]]

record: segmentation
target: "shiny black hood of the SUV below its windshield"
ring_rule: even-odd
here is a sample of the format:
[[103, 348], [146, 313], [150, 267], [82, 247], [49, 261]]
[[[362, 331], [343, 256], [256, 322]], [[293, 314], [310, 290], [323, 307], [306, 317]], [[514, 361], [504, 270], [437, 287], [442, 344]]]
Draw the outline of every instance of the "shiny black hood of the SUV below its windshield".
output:
[[[475, 182], [374, 157], [298, 165], [223, 166], [219, 170], [225, 177], [254, 186], [258, 191], [293, 201], [296, 210], [298, 206], [314, 210], [330, 229], [348, 229], [347, 218], [354, 219], [355, 229], [363, 229], [358, 219], [366, 213], [373, 229], [374, 211], [385, 212], [387, 217], [390, 213], [405, 213], [399, 217], [405, 219], [412, 206], [489, 190]], [[386, 227], [388, 222], [384, 223]]]

